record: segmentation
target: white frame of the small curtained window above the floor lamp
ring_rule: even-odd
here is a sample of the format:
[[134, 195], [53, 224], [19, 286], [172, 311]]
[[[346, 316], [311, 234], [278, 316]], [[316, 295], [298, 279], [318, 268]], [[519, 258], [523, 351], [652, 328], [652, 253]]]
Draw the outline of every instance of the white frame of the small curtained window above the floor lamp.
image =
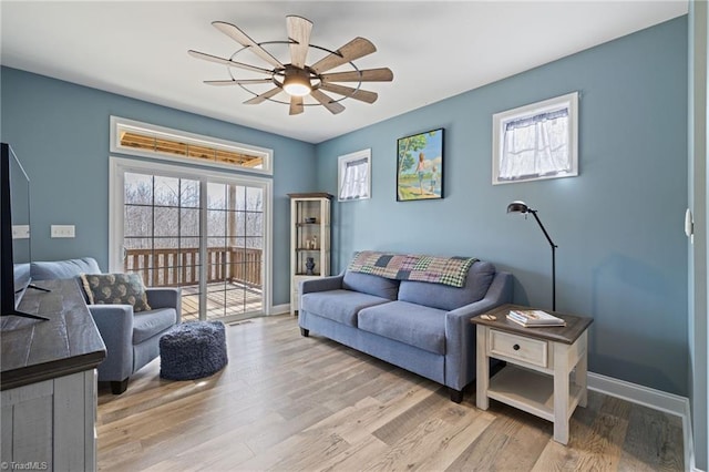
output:
[[[567, 93], [553, 99], [518, 106], [516, 109], [495, 113], [492, 117], [492, 184], [513, 184], [517, 182], [545, 181], [549, 178], [575, 177], [578, 175], [578, 92]], [[568, 155], [569, 171], [557, 171], [555, 174], [527, 175], [516, 178], [500, 178], [500, 164], [503, 161], [503, 141], [507, 123], [521, 119], [534, 117], [540, 114], [568, 110]]]

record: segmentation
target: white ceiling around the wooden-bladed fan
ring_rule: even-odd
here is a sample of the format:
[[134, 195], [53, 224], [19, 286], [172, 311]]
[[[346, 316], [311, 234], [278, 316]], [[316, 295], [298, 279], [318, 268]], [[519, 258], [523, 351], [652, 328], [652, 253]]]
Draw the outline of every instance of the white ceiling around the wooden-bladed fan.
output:
[[[685, 14], [688, 2], [2, 0], [0, 9], [3, 65], [319, 143]], [[260, 43], [287, 40], [287, 14], [312, 21], [310, 43], [328, 50], [369, 39], [378, 51], [354, 63], [388, 66], [393, 82], [363, 84], [379, 93], [373, 104], [348, 99], [338, 115], [306, 106], [296, 116], [284, 104], [243, 104], [253, 95], [238, 86], [202, 83], [229, 72], [188, 49], [225, 58], [240, 49], [212, 21]], [[267, 68], [248, 50], [235, 60]]]

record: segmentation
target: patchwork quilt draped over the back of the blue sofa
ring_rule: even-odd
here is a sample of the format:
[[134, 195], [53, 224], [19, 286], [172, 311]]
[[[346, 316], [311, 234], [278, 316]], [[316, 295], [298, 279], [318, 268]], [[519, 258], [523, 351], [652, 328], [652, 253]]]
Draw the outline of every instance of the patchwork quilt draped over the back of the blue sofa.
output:
[[397, 280], [429, 281], [453, 287], [465, 285], [467, 269], [474, 257], [436, 257], [362, 250], [352, 258], [348, 269]]

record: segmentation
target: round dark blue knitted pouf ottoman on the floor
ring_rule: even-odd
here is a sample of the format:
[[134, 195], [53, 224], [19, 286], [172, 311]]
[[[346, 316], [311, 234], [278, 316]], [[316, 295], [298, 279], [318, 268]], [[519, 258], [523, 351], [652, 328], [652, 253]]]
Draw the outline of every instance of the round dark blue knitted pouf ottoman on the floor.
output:
[[160, 377], [163, 379], [199, 379], [218, 372], [226, 363], [222, 321], [184, 322], [160, 338]]

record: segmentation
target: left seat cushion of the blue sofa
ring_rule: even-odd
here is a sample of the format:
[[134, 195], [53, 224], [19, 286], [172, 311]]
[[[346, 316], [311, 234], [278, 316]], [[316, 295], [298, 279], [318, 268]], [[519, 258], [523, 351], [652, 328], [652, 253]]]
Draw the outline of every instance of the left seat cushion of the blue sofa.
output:
[[391, 300], [351, 290], [327, 290], [304, 294], [300, 309], [343, 325], [357, 327], [357, 314], [367, 307]]

